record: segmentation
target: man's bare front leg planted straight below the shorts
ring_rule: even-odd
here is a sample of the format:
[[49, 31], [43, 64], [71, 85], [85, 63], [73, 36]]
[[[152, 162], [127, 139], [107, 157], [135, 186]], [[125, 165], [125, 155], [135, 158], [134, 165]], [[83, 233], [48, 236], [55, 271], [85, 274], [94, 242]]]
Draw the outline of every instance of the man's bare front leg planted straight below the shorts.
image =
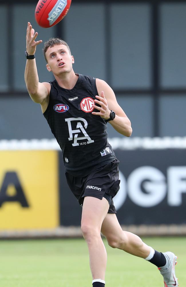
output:
[[105, 278], [107, 254], [100, 231], [108, 209], [109, 203], [104, 197], [102, 200], [89, 196], [84, 198], [81, 229], [88, 245], [93, 280]]

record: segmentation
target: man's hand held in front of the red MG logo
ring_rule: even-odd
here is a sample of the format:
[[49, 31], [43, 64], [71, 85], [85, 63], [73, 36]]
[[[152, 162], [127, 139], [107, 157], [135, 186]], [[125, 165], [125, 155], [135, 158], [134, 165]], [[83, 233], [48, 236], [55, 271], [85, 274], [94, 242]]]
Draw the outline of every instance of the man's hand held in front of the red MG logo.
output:
[[110, 118], [110, 110], [108, 108], [108, 103], [105, 98], [104, 92], [101, 92], [101, 96], [96, 96], [96, 100], [94, 100], [95, 103], [99, 104], [99, 106], [94, 105], [94, 108], [99, 110], [100, 112], [92, 112], [92, 115], [100, 116], [103, 119], [109, 119]]

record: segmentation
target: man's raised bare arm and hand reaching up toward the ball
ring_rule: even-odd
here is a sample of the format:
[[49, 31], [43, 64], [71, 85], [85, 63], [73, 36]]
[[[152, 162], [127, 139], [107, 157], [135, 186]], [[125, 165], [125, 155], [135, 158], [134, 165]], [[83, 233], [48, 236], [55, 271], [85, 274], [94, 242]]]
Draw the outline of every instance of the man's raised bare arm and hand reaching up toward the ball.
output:
[[[28, 55], [34, 55], [36, 46], [42, 42], [42, 40], [35, 41], [37, 35], [38, 33], [34, 32], [30, 22], [28, 22], [26, 35], [26, 51]], [[42, 104], [43, 101], [46, 101], [49, 94], [50, 84], [39, 83], [35, 59], [27, 59], [25, 67], [25, 83], [29, 95], [34, 102]]]

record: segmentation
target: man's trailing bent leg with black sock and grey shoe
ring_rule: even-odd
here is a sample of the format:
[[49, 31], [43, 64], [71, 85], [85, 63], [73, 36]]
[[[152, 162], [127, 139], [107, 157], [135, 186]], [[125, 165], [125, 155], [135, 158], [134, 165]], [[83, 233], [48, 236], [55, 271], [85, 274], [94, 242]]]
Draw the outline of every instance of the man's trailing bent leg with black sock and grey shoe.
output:
[[172, 252], [161, 253], [146, 245], [137, 235], [123, 231], [116, 214], [107, 214], [101, 228], [108, 244], [155, 264], [163, 276], [165, 287], [178, 286], [175, 276], [176, 256]]

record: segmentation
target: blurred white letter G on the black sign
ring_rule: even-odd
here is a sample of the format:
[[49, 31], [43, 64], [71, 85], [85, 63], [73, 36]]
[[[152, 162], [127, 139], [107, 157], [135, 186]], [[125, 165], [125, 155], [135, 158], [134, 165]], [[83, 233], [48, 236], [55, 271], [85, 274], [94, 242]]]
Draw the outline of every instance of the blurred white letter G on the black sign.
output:
[[[139, 206], [152, 207], [166, 195], [164, 174], [153, 166], [136, 168], [128, 177], [128, 196]], [[145, 192], [142, 191], [142, 187]]]

